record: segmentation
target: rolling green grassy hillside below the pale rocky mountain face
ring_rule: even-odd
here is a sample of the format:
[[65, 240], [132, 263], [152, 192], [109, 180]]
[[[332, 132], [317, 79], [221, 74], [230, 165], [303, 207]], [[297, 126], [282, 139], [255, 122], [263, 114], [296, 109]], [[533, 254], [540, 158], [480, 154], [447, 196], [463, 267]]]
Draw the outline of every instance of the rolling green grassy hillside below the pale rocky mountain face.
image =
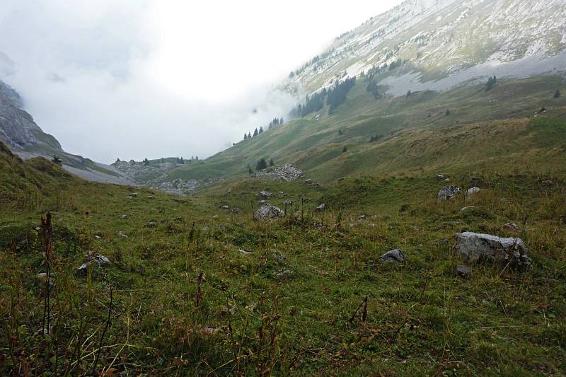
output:
[[[485, 84], [478, 83], [443, 93], [427, 91], [380, 100], [366, 86], [366, 81], [359, 80], [334, 115], [324, 108], [320, 120], [311, 114], [291, 121], [207, 160], [172, 170], [168, 176], [246, 175], [247, 166], [255, 167], [260, 158], [294, 163], [323, 182], [343, 175], [489, 168], [494, 158], [503, 162], [498, 168], [510, 171], [525, 163], [552, 169], [555, 161], [564, 161], [564, 137], [546, 138], [547, 128], [533, 121], [535, 112], [545, 108], [545, 122], [553, 124], [549, 127], [565, 129], [566, 98], [553, 98], [564, 87], [562, 76], [499, 81], [487, 92]], [[370, 143], [374, 136], [379, 140]], [[546, 139], [543, 147], [540, 139]], [[342, 153], [344, 147], [346, 153]]]

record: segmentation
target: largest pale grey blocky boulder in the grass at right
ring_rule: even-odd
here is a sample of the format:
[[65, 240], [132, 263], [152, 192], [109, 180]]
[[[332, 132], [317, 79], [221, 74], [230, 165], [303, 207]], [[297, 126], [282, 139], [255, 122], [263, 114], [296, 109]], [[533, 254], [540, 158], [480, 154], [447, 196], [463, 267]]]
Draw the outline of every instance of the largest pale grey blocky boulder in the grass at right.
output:
[[521, 238], [501, 238], [472, 232], [456, 233], [456, 249], [465, 262], [502, 262], [514, 267], [531, 267], [529, 249]]

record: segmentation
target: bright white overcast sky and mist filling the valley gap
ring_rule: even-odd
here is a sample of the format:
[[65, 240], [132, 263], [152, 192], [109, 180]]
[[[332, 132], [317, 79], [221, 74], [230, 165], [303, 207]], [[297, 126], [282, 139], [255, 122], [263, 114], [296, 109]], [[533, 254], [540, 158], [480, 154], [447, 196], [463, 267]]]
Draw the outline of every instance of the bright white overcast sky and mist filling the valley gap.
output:
[[289, 71], [401, 2], [0, 1], [0, 79], [65, 150], [105, 163], [224, 149], [285, 115], [294, 100], [270, 88]]

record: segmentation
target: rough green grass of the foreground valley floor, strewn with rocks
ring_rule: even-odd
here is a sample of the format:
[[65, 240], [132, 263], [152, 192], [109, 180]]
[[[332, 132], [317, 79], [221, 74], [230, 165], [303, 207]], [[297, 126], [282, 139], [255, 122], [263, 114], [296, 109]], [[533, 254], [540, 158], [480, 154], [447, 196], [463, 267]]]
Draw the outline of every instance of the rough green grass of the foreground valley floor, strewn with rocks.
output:
[[[443, 171], [481, 188], [449, 202], [437, 173], [195, 197], [77, 182], [6, 205], [0, 374], [565, 375], [564, 172]], [[287, 216], [253, 220], [265, 188]], [[456, 276], [461, 231], [520, 236], [533, 269]], [[393, 248], [405, 262], [380, 262]], [[89, 251], [110, 264], [76, 272]]]

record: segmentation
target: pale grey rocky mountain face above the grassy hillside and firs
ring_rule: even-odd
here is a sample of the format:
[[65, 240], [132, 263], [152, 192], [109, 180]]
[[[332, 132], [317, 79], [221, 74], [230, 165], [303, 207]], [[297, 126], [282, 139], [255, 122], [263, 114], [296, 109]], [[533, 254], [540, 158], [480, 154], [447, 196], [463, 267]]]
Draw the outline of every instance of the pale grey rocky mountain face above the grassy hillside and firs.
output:
[[311, 92], [371, 72], [380, 81], [400, 76], [386, 83], [401, 95], [493, 74], [565, 71], [565, 14], [561, 0], [408, 0], [337, 38], [285, 85]]

